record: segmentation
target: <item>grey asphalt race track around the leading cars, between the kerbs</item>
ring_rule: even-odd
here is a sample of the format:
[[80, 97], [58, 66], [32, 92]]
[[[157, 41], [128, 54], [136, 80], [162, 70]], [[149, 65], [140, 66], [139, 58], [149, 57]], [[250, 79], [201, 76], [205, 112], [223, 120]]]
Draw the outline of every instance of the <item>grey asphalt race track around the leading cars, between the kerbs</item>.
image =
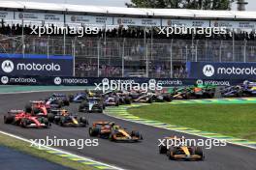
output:
[[[13, 125], [4, 125], [3, 114], [9, 109], [22, 109], [29, 100], [44, 99], [49, 94], [44, 92], [0, 95], [0, 129], [27, 139], [42, 139], [46, 138], [47, 135], [49, 138], [56, 136], [59, 139], [90, 138], [88, 128], [61, 128], [52, 125], [48, 129], [24, 129]], [[69, 109], [72, 112], [77, 112], [78, 104], [71, 104]], [[85, 147], [82, 150], [78, 150], [76, 147], [60, 147], [61, 149], [131, 170], [256, 170], [256, 151], [249, 148], [229, 144], [226, 147], [214, 147], [205, 150], [206, 159], [204, 161], [174, 161], [169, 160], [167, 156], [158, 154], [158, 139], [170, 135], [185, 136], [192, 139], [199, 137], [130, 123], [104, 114], [83, 115], [87, 117], [90, 124], [93, 121], [113, 121], [124, 128], [138, 129], [143, 133], [144, 141], [141, 143], [115, 143], [106, 139], [99, 139], [100, 145], [98, 147]]]

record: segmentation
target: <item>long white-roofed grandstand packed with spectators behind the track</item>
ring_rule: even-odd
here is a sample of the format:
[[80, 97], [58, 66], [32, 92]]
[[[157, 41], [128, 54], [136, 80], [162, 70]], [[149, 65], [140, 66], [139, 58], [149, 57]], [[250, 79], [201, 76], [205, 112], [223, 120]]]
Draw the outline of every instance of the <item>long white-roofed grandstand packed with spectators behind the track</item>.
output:
[[[132, 9], [0, 1], [0, 53], [73, 55], [76, 76], [185, 78], [189, 61], [256, 62], [256, 13]], [[224, 35], [159, 35], [159, 27], [217, 27]], [[31, 35], [39, 26], [97, 26], [95, 35]]]

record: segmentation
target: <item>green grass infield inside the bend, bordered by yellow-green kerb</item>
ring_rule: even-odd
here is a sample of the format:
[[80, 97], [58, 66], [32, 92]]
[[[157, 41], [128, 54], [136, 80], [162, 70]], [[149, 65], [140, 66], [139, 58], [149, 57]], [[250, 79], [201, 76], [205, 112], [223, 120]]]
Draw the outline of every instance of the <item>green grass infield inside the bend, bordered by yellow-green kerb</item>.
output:
[[255, 104], [152, 104], [129, 113], [149, 120], [256, 141]]

